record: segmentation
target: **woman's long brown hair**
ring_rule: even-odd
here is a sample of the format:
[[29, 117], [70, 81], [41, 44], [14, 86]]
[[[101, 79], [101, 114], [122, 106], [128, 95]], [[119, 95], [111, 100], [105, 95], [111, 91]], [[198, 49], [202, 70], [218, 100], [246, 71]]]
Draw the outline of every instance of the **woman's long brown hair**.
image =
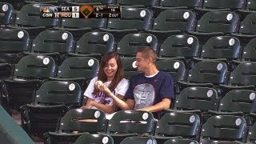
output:
[[[101, 60], [101, 65], [98, 70], [98, 81], [102, 81], [103, 83], [105, 83], [107, 81], [106, 74], [104, 73], [104, 68], [105, 68], [107, 62], [109, 62], [111, 58], [114, 58], [117, 61], [117, 65], [118, 65], [118, 70], [117, 70], [116, 74], [114, 75], [114, 78], [110, 83], [110, 86], [108, 86], [108, 88], [112, 92], [118, 86], [118, 83], [122, 80], [123, 75], [124, 75], [123, 68], [122, 68], [122, 62], [121, 62], [121, 59], [120, 59], [120, 56], [118, 53], [108, 52], [103, 55], [102, 60]], [[99, 90], [97, 90], [94, 87], [93, 94], [97, 94], [98, 92], [99, 92]]]

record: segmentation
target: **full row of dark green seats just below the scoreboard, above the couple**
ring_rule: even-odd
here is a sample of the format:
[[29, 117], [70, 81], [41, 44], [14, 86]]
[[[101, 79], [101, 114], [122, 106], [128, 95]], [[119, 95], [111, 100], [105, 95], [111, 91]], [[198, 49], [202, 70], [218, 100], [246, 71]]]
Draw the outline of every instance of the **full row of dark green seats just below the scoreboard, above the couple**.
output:
[[[101, 59], [102, 54], [116, 51], [125, 57], [134, 57], [140, 47], [151, 47], [159, 58], [181, 60], [186, 68], [193, 62], [205, 59], [226, 62], [229, 70], [241, 62], [255, 62], [256, 38], [242, 46], [233, 36], [216, 36], [201, 45], [197, 37], [190, 34], [171, 35], [164, 42], [158, 42], [154, 34], [126, 34], [117, 42], [113, 34], [93, 31], [83, 34], [78, 41], [65, 30], [45, 30], [30, 39], [26, 30], [0, 29], [0, 62], [16, 64], [20, 58], [30, 54], [44, 54], [54, 58], [59, 66], [70, 56], [87, 56]], [[192, 66], [191, 66], [192, 65]]]

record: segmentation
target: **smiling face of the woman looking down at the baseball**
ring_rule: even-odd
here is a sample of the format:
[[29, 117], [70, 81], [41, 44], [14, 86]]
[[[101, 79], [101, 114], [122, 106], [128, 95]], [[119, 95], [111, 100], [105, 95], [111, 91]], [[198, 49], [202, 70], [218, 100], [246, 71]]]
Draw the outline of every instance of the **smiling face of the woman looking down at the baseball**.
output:
[[106, 74], [106, 78], [108, 81], [112, 81], [114, 75], [118, 71], [118, 64], [115, 58], [111, 58], [109, 62], [106, 62], [106, 66], [103, 68], [104, 73]]

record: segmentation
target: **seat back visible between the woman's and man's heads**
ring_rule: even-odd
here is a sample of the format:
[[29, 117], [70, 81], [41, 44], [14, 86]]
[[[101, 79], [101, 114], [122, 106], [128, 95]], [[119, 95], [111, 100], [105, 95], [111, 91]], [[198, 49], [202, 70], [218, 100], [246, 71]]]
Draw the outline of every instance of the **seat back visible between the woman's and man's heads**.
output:
[[121, 57], [122, 68], [124, 70], [124, 77], [130, 79], [139, 74], [137, 66], [135, 65], [136, 58], [134, 57]]

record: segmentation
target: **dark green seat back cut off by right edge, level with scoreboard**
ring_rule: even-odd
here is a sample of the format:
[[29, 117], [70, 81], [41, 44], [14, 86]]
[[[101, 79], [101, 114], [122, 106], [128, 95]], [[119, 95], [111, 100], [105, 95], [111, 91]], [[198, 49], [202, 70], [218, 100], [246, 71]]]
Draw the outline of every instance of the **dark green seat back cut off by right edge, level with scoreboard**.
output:
[[256, 34], [256, 14], [251, 13], [246, 16], [246, 18], [241, 22], [239, 33], [241, 34]]

